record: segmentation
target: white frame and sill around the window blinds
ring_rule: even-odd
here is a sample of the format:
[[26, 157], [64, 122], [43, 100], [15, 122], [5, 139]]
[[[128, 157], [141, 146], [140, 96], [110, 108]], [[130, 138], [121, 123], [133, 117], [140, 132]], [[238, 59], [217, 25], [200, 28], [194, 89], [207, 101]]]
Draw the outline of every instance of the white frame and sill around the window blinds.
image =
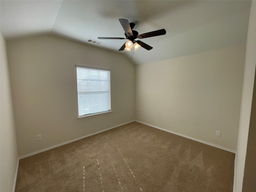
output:
[[[109, 71], [109, 86], [110, 86], [110, 110], [107, 111], [101, 111], [93, 114], [85, 114], [79, 116], [79, 92], [78, 92], [78, 75], [77, 75], [77, 68], [87, 68], [87, 69], [94, 69], [94, 70], [105, 70]], [[90, 66], [82, 66], [82, 65], [76, 65], [76, 85], [77, 85], [77, 102], [78, 102], [78, 119], [83, 119], [83, 118], [89, 118], [93, 116], [98, 116], [98, 115], [103, 115], [103, 114], [108, 114], [112, 112], [111, 109], [111, 70], [110, 69], [105, 69], [105, 68], [96, 68], [96, 67], [90, 67]]]

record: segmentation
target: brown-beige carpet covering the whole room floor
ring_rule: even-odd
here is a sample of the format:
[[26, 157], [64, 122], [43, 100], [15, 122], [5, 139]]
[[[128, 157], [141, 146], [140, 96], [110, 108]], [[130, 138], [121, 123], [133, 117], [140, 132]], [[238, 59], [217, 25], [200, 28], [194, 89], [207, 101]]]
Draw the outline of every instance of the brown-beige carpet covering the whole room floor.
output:
[[20, 160], [16, 192], [232, 192], [234, 154], [138, 122]]

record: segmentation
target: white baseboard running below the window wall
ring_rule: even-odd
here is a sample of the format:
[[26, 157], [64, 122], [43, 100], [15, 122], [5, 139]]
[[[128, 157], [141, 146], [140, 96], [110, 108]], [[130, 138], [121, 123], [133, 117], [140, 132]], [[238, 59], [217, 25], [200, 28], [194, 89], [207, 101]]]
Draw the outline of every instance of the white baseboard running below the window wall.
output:
[[26, 157], [29, 157], [29, 156], [32, 156], [32, 155], [35, 155], [35, 154], [38, 154], [38, 153], [42, 153], [44, 151], [47, 151], [47, 150], [50, 150], [50, 149], [53, 149], [53, 148], [56, 148], [56, 147], [59, 147], [59, 146], [62, 146], [62, 145], [68, 144], [68, 143], [72, 143], [72, 142], [80, 140], [82, 138], [86, 138], [86, 137], [89, 137], [89, 136], [92, 136], [92, 135], [95, 135], [95, 134], [98, 134], [98, 133], [101, 133], [101, 132], [104, 132], [104, 131], [107, 131], [107, 130], [110, 130], [110, 129], [113, 129], [113, 128], [116, 128], [116, 127], [119, 127], [119, 126], [122, 126], [122, 125], [125, 125], [125, 124], [128, 124], [128, 123], [134, 122], [134, 121], [135, 120], [132, 120], [132, 121], [129, 121], [129, 122], [126, 122], [126, 123], [123, 123], [123, 124], [120, 124], [120, 125], [116, 125], [116, 126], [113, 126], [113, 127], [110, 127], [110, 128], [107, 128], [107, 129], [104, 129], [104, 130], [101, 130], [101, 131], [98, 131], [98, 132], [95, 132], [95, 133], [92, 133], [92, 134], [89, 134], [89, 135], [86, 135], [86, 136], [82, 136], [82, 137], [77, 138], [77, 139], [73, 139], [73, 140], [70, 140], [70, 141], [67, 141], [67, 142], [64, 142], [64, 143], [52, 146], [52, 147], [48, 147], [46, 149], [43, 149], [43, 150], [40, 150], [40, 151], [36, 151], [36, 152], [30, 153], [30, 154], [21, 156], [21, 157], [19, 157], [19, 159], [24, 159]]

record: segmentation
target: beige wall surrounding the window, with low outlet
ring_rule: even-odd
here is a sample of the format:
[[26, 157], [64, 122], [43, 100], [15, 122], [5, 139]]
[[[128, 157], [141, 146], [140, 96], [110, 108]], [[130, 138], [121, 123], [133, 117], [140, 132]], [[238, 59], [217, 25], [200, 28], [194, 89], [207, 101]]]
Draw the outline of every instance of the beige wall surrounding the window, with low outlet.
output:
[[[134, 120], [135, 68], [124, 56], [55, 36], [7, 49], [19, 156]], [[77, 119], [76, 64], [111, 69], [112, 113]]]

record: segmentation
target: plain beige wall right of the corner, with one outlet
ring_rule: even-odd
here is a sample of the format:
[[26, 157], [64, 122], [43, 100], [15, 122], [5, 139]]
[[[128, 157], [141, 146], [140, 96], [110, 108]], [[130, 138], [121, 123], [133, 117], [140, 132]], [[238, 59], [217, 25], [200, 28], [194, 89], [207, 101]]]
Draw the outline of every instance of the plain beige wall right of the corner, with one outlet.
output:
[[238, 45], [136, 66], [136, 120], [236, 150], [244, 58]]

